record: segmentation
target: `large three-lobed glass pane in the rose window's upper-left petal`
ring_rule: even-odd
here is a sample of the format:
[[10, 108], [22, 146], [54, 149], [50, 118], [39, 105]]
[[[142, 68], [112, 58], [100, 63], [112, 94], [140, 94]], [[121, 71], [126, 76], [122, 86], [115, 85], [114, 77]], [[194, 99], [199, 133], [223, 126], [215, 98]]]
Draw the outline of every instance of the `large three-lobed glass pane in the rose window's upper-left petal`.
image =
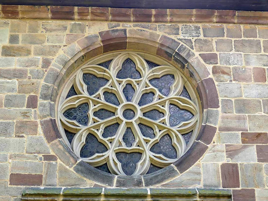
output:
[[97, 93], [99, 88], [105, 86], [108, 82], [108, 79], [102, 77], [96, 77], [95, 75], [84, 73], [83, 81], [87, 85], [87, 91], [89, 95]]

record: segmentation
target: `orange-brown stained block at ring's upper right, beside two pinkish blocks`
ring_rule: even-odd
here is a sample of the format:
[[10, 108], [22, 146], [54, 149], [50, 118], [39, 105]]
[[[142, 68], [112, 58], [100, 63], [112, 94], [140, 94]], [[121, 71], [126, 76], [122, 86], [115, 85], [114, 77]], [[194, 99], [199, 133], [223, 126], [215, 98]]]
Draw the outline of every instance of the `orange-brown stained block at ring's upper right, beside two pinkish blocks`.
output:
[[228, 82], [232, 78], [231, 68], [228, 66], [212, 66], [212, 75], [216, 82]]

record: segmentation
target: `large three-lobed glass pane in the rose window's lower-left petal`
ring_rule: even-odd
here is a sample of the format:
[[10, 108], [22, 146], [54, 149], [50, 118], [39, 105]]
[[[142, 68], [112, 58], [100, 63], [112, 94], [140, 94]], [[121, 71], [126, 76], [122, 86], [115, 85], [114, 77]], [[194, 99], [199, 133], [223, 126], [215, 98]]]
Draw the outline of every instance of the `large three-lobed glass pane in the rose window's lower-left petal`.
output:
[[93, 156], [95, 153], [104, 153], [108, 149], [104, 144], [98, 141], [97, 137], [92, 134], [86, 136], [86, 144], [82, 147], [80, 151], [80, 157], [88, 158]]

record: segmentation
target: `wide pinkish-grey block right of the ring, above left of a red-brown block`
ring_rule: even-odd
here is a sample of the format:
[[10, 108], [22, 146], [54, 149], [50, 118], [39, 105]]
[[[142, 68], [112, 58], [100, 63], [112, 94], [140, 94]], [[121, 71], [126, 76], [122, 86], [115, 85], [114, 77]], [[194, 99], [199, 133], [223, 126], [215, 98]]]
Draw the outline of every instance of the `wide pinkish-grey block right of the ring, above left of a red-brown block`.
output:
[[219, 131], [248, 131], [246, 115], [220, 115]]

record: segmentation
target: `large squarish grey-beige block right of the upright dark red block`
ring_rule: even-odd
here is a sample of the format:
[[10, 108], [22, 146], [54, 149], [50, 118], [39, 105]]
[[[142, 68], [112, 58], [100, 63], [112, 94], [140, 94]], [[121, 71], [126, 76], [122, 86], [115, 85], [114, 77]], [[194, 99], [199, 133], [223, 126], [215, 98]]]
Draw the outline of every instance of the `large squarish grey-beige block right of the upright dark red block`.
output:
[[239, 164], [240, 183], [242, 188], [263, 188], [263, 165], [261, 163]]

